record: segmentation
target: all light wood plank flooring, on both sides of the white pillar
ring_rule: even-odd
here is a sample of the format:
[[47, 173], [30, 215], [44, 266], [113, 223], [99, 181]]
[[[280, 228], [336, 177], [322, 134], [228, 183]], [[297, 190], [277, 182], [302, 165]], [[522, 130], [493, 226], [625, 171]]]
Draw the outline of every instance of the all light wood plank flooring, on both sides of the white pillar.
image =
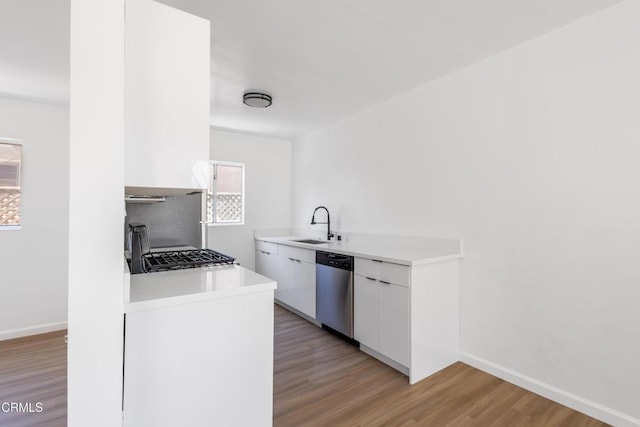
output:
[[[463, 363], [410, 386], [354, 346], [279, 306], [275, 313], [275, 427], [606, 426]], [[65, 426], [66, 363], [64, 331], [0, 341], [0, 404], [44, 409], [0, 411], [0, 426]]]

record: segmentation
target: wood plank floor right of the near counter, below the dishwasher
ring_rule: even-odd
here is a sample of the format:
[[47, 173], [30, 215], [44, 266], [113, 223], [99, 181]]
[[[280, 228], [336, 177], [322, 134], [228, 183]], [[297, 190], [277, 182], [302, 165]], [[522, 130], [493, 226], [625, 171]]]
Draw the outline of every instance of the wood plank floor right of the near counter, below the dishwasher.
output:
[[456, 363], [407, 377], [276, 305], [274, 426], [606, 426]]

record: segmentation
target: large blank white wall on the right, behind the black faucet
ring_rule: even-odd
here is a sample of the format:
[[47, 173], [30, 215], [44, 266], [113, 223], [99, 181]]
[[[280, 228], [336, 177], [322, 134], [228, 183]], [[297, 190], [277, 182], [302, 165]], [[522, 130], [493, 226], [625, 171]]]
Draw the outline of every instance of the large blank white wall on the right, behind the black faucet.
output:
[[[293, 143], [293, 222], [464, 239], [464, 360], [640, 423], [640, 2]], [[634, 419], [635, 418], [635, 419]]]

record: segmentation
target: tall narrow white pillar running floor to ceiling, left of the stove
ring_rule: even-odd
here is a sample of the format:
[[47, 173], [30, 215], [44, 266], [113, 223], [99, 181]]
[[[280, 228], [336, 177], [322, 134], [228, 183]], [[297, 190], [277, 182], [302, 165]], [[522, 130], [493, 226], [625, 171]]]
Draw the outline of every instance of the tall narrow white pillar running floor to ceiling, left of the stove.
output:
[[71, 2], [68, 425], [122, 425], [124, 0]]

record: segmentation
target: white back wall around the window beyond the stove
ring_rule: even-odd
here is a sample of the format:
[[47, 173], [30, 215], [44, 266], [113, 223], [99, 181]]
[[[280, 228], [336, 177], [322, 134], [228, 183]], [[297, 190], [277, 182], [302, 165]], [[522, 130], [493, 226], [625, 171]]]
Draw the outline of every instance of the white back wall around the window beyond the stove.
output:
[[211, 130], [212, 160], [245, 164], [244, 225], [210, 226], [208, 247], [254, 268], [255, 229], [288, 228], [291, 218], [291, 142]]

